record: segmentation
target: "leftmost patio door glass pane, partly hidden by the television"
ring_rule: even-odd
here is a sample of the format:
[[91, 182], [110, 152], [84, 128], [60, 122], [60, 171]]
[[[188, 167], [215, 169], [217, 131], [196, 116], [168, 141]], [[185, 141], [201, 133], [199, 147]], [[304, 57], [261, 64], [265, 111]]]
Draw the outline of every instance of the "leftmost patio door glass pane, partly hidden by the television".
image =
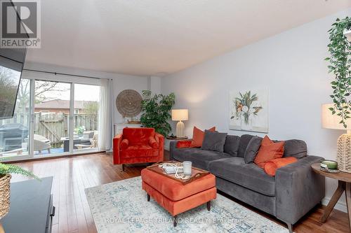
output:
[[0, 120], [0, 157], [28, 155], [30, 80], [22, 78], [13, 118]]

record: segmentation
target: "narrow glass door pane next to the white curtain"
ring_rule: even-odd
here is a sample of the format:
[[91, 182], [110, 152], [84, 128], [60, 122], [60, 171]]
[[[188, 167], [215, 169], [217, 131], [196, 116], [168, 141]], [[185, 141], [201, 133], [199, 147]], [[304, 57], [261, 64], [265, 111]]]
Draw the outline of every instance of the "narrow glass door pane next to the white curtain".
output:
[[74, 150], [76, 151], [98, 148], [99, 99], [99, 86], [74, 84]]

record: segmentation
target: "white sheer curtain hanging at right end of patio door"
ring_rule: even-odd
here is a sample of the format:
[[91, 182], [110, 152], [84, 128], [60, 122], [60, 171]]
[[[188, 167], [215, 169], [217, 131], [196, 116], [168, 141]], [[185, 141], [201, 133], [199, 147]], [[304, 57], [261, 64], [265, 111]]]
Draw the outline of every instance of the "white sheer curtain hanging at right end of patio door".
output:
[[113, 100], [112, 80], [101, 79], [100, 86], [100, 108], [99, 108], [99, 150], [109, 151], [112, 149], [113, 135]]

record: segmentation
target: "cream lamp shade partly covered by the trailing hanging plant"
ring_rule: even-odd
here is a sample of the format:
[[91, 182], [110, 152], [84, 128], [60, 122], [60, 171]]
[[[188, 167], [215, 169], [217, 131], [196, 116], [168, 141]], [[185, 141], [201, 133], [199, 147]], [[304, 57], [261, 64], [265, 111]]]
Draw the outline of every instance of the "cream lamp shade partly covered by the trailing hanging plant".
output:
[[341, 117], [336, 114], [331, 114], [329, 108], [333, 108], [334, 104], [322, 104], [322, 127], [326, 129], [351, 129], [351, 120], [350, 118], [346, 121], [347, 128], [340, 124]]

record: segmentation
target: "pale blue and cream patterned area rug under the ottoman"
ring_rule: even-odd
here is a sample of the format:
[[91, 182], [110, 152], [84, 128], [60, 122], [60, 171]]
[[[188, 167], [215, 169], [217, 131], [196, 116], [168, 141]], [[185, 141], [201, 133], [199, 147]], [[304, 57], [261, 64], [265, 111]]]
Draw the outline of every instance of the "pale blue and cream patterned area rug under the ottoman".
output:
[[171, 215], [141, 189], [139, 177], [87, 188], [86, 197], [98, 232], [289, 232], [222, 195], [180, 213], [173, 227]]

